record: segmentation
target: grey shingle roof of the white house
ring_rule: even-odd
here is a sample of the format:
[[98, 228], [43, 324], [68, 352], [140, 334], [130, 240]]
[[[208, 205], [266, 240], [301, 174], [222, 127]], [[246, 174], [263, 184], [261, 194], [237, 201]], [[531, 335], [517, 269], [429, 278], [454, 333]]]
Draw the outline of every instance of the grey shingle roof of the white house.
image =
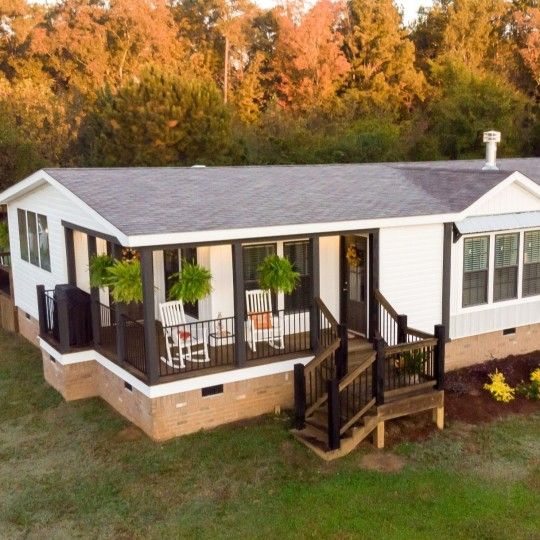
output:
[[208, 168], [46, 169], [124, 234], [331, 223], [460, 212], [540, 159]]

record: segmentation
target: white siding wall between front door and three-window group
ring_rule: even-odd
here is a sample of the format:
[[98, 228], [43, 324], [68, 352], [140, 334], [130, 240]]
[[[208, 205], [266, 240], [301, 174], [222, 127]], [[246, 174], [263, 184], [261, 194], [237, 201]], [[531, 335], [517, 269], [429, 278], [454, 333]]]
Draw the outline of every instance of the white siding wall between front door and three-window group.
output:
[[424, 332], [442, 320], [443, 235], [442, 223], [380, 230], [380, 290]]

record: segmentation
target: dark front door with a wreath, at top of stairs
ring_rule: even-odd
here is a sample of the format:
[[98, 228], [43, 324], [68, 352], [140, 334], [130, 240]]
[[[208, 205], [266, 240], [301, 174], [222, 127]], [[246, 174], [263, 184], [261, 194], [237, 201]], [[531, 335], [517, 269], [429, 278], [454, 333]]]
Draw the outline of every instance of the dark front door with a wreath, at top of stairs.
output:
[[342, 262], [344, 315], [349, 330], [367, 335], [367, 238], [344, 238]]

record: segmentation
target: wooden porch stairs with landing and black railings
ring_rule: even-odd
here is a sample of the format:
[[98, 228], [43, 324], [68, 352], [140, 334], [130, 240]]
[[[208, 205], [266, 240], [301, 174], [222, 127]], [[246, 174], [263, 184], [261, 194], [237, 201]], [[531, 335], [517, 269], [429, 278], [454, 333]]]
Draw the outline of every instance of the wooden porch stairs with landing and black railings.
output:
[[433, 335], [411, 328], [380, 291], [375, 297], [381, 319], [373, 343], [353, 336], [315, 298], [317, 354], [294, 367], [292, 434], [327, 461], [370, 435], [383, 448], [385, 422], [400, 416], [432, 410], [443, 428], [444, 391], [437, 388], [444, 383], [444, 327], [435, 326]]

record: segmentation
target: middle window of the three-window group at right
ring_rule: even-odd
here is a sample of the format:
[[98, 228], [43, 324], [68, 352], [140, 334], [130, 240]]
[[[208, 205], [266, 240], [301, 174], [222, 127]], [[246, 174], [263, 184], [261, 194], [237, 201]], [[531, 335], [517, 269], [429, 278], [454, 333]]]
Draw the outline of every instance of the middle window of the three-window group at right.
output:
[[519, 234], [500, 234], [495, 237], [495, 274], [493, 300], [517, 298], [519, 265]]

